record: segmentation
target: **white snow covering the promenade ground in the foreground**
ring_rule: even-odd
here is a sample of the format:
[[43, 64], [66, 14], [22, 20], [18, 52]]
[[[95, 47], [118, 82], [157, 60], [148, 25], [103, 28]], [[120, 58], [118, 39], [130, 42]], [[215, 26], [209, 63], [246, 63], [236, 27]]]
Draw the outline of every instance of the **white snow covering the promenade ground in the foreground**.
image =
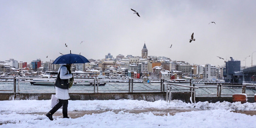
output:
[[[109, 110], [104, 113], [86, 114], [79, 118], [63, 119], [53, 116], [49, 120], [45, 114], [51, 109], [50, 100], [12, 100], [0, 101], [0, 128], [61, 128], [61, 127], [100, 127], [100, 128], [255, 128], [256, 115], [234, 113], [232, 111], [255, 111], [256, 103], [240, 102], [198, 102], [194, 109], [175, 115], [154, 115], [153, 113], [128, 113], [112, 110], [132, 109], [186, 109], [193, 108], [190, 103], [173, 100], [147, 102], [143, 100], [76, 100], [69, 101], [68, 111]], [[199, 111], [198, 111], [199, 110]], [[61, 112], [59, 109], [58, 112]], [[33, 114], [42, 112], [44, 114]]]

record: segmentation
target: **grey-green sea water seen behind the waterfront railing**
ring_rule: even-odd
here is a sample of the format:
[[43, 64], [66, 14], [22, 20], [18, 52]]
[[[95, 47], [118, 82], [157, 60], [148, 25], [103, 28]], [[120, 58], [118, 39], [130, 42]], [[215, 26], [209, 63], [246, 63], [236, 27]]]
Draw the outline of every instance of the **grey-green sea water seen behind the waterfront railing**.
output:
[[[181, 85], [189, 86], [189, 83], [178, 83]], [[195, 89], [196, 96], [217, 96], [217, 86], [209, 86], [204, 84], [196, 84]], [[189, 92], [189, 88], [181, 86], [171, 86], [172, 92]], [[167, 85], [164, 86], [166, 92]], [[19, 90], [18, 90], [19, 89]], [[0, 82], [0, 93], [13, 93], [13, 82]], [[129, 83], [106, 83], [104, 86], [88, 86], [88, 85], [76, 85], [69, 89], [69, 93], [129, 93], [129, 92], [161, 92], [160, 83], [134, 83], [133, 88], [129, 88]], [[30, 82], [21, 82], [19, 87], [16, 83], [16, 93], [55, 93], [53, 85], [31, 85]], [[223, 86], [221, 89], [221, 95], [232, 95], [234, 93], [242, 93], [241, 87]], [[256, 93], [255, 88], [246, 88], [246, 94], [254, 95]]]

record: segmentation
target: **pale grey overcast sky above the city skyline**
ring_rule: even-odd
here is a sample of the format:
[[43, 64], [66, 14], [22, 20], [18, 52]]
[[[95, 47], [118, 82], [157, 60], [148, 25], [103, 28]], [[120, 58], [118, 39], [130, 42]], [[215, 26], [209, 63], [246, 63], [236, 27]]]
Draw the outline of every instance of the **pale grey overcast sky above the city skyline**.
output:
[[[216, 56], [232, 56], [241, 65], [250, 56], [250, 66], [256, 51], [256, 1], [0, 2], [0, 61], [45, 62], [70, 50], [88, 59], [102, 59], [108, 53], [141, 56], [145, 42], [149, 56], [216, 66], [225, 64]], [[195, 41], [189, 43], [192, 33]], [[256, 65], [256, 53], [253, 60]]]

